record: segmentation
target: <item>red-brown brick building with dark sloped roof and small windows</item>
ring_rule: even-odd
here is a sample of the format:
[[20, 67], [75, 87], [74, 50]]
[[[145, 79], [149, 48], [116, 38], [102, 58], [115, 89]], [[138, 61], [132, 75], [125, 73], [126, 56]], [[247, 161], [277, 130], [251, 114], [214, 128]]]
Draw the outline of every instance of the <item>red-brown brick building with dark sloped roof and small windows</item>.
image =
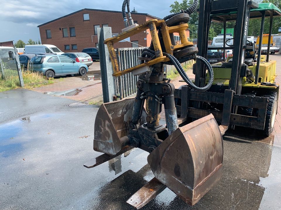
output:
[[[159, 19], [145, 13], [131, 13], [135, 23], [142, 24], [150, 19]], [[39, 25], [42, 44], [52, 44], [64, 52], [82, 51], [83, 48], [98, 47], [97, 28], [112, 27], [112, 34], [119, 34], [124, 28], [122, 12], [82, 9]], [[189, 37], [189, 31], [186, 31]], [[177, 34], [175, 34], [177, 35]], [[178, 38], [176, 36], [176, 38]], [[115, 48], [150, 46], [150, 31], [143, 31], [114, 44]]]

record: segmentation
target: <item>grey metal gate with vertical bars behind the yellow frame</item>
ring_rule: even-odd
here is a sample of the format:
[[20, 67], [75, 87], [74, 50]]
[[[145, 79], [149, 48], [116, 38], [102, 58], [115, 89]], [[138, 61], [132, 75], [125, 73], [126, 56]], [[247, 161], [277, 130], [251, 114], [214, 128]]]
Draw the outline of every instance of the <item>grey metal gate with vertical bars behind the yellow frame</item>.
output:
[[[138, 59], [141, 56], [143, 47], [118, 48], [116, 51], [119, 58], [119, 68], [121, 71], [140, 64]], [[116, 96], [120, 99], [134, 95], [137, 92], [138, 76], [133, 73], [124, 74], [115, 78]]]

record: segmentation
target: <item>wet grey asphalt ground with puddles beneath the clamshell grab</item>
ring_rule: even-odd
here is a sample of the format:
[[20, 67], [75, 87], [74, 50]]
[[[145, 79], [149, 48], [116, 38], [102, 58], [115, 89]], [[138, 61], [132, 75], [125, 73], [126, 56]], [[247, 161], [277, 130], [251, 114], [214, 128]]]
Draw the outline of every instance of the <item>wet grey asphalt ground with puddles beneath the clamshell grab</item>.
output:
[[[25, 89], [0, 101], [1, 210], [134, 209], [126, 200], [153, 178], [147, 152], [83, 167], [101, 154], [92, 149], [97, 106]], [[142, 209], [281, 209], [280, 136], [239, 132], [224, 136], [222, 179], [195, 206], [166, 188]]]

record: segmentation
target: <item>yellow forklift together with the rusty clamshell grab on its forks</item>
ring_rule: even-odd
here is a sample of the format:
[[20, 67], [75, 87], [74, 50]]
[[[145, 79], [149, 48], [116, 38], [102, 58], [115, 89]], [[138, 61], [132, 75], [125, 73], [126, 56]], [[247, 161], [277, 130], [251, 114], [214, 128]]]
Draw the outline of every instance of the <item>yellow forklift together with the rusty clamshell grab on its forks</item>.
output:
[[[255, 44], [247, 41], [247, 35], [250, 18], [262, 18], [263, 34], [265, 17], [270, 17], [271, 36], [273, 17], [281, 16], [281, 12], [273, 4], [249, 0], [201, 0], [200, 5], [194, 0], [186, 10], [138, 25], [133, 22], [129, 3], [124, 0], [122, 5], [122, 33], [99, 44], [107, 45], [112, 76], [130, 72], [138, 75], [138, 91], [134, 98], [101, 105], [95, 119], [93, 148], [104, 154], [84, 166], [93, 168], [140, 148], [149, 153], [147, 160], [155, 178], [127, 203], [140, 209], [167, 187], [195, 205], [221, 178], [222, 135], [227, 129], [251, 127], [265, 135], [273, 131], [279, 91], [274, 81], [276, 61], [269, 60], [269, 54], [261, 57], [261, 48], [256, 56]], [[197, 11], [198, 48], [186, 36], [189, 15]], [[213, 65], [206, 60], [211, 21], [224, 24], [224, 46], [216, 49], [223, 50], [224, 55], [230, 49], [234, 53], [232, 58]], [[231, 46], [227, 46], [227, 21], [236, 21]], [[141, 64], [121, 71], [114, 43], [146, 30], [152, 41], [139, 57]], [[181, 39], [179, 45], [174, 40], [175, 32]], [[196, 60], [194, 81], [181, 66], [189, 60]], [[187, 85], [175, 89], [165, 74], [167, 64], [176, 67]], [[162, 105], [166, 125], [160, 124]]]

